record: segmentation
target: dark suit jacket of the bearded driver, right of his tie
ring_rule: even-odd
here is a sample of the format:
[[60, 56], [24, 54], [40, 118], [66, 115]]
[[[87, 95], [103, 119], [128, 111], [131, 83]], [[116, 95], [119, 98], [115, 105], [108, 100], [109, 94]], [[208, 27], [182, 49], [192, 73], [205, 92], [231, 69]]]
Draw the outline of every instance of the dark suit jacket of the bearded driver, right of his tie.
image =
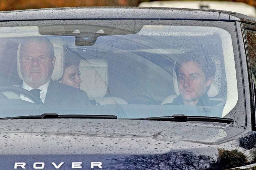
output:
[[50, 80], [44, 104], [89, 104], [85, 91]]

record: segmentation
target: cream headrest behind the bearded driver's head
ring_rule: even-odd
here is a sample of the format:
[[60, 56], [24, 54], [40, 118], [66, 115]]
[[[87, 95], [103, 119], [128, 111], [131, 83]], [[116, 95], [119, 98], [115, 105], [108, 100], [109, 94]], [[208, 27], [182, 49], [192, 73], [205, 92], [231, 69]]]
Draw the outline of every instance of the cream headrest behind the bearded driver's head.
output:
[[[54, 47], [54, 56], [55, 56], [55, 64], [54, 64], [54, 69], [52, 73], [52, 80], [58, 80], [62, 77], [63, 72], [64, 72], [64, 55], [63, 55], [63, 45], [61, 43], [57, 43], [55, 41], [51, 41]], [[17, 50], [17, 71], [20, 79], [23, 80], [23, 76], [20, 71], [20, 62], [19, 62], [19, 57], [20, 57], [20, 46], [18, 47]]]

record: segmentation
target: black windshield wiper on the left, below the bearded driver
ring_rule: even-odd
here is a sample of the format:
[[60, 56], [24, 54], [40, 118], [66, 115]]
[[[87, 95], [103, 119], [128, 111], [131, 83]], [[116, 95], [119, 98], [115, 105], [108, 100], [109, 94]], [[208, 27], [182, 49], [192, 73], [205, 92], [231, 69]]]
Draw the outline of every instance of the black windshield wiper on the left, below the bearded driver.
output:
[[97, 118], [97, 119], [117, 119], [117, 116], [113, 115], [91, 115], [91, 114], [57, 114], [57, 113], [44, 113], [42, 115], [30, 115], [30, 116], [15, 116], [4, 117], [4, 119], [38, 119], [38, 118]]

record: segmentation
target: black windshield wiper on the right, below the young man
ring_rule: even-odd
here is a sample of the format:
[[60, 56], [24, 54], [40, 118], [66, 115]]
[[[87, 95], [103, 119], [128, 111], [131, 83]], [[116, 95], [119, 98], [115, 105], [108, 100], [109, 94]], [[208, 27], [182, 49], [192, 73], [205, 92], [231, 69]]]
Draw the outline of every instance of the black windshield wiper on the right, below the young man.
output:
[[172, 116], [163, 117], [146, 117], [133, 118], [132, 120], [147, 120], [147, 121], [171, 121], [171, 122], [218, 122], [218, 123], [233, 123], [232, 118], [207, 117], [207, 116], [187, 116], [185, 114], [174, 114]]

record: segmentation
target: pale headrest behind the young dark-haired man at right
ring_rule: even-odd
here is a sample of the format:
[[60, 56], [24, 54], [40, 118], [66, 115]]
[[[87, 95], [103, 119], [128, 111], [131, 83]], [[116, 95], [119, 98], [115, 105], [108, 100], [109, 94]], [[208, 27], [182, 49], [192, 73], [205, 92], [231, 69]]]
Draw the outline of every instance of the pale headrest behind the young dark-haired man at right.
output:
[[[174, 68], [173, 68], [173, 87], [176, 95], [180, 95], [180, 91], [178, 87], [178, 79], [177, 79], [177, 75]], [[219, 92], [220, 92], [220, 88], [214, 81], [212, 81], [211, 87], [207, 92], [208, 97], [209, 98], [215, 97]]]

